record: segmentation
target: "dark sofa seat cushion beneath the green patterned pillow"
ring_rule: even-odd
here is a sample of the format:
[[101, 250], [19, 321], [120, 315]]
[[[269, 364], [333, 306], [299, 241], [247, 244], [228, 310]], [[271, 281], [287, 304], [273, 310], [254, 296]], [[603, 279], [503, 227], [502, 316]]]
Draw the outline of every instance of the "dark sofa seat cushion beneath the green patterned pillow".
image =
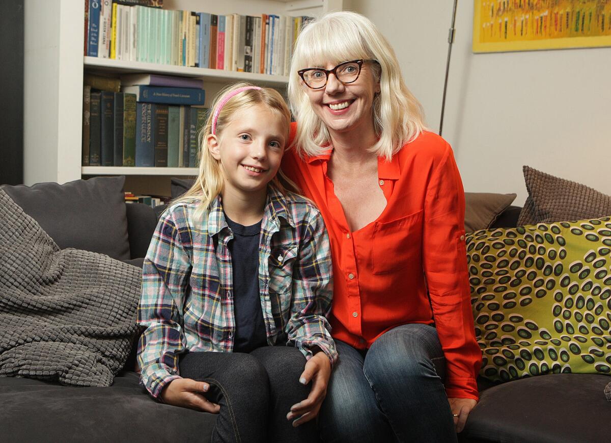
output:
[[609, 377], [552, 374], [480, 392], [461, 442], [609, 441], [611, 404], [602, 393]]

